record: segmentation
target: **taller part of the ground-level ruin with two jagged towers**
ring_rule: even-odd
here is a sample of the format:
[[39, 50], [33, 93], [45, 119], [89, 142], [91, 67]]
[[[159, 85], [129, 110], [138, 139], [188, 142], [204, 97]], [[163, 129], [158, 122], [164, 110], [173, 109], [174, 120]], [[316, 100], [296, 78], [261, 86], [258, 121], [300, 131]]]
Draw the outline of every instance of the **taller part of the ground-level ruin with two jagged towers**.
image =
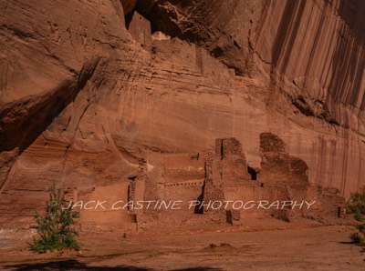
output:
[[[260, 136], [262, 164], [258, 178], [252, 180], [247, 173], [248, 165], [241, 144], [235, 138], [217, 139], [213, 159], [207, 159], [207, 174], [204, 186], [204, 200], [221, 201], [293, 201], [300, 204], [316, 202], [309, 209], [291, 208], [249, 209], [235, 211], [233, 206], [224, 210], [204, 210], [210, 219], [224, 221], [253, 219], [274, 216], [292, 221], [308, 217], [322, 221], [326, 216], [343, 215], [344, 198], [333, 188], [311, 186], [308, 182], [308, 166], [295, 157], [289, 156], [286, 145], [278, 136], [263, 133]], [[238, 213], [238, 214], [237, 214]]]

